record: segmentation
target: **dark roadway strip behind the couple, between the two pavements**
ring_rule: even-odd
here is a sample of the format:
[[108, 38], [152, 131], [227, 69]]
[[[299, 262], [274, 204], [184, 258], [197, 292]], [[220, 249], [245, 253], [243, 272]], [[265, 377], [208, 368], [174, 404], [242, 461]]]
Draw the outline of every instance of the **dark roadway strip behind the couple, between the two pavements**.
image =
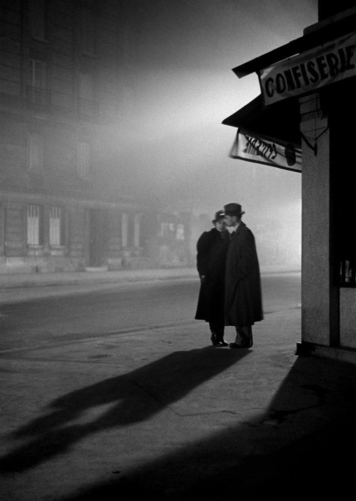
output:
[[[198, 280], [154, 281], [3, 305], [1, 349], [135, 331], [150, 335], [155, 328], [190, 323], [200, 324], [208, 341], [208, 326], [194, 320], [198, 291]], [[300, 274], [262, 276], [262, 294], [265, 315], [297, 308]]]

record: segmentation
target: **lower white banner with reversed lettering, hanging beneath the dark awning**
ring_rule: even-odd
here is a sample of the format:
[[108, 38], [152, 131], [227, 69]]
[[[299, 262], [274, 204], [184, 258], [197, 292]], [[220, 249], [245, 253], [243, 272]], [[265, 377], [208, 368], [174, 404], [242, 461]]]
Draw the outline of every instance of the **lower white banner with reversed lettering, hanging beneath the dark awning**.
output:
[[273, 165], [280, 169], [301, 171], [300, 146], [255, 134], [246, 129], [238, 129], [230, 157]]

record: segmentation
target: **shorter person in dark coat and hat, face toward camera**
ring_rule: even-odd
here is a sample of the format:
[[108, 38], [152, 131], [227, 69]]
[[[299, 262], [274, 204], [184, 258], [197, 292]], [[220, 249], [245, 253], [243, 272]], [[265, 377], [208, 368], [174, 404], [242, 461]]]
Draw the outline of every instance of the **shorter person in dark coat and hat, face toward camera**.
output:
[[197, 242], [200, 291], [195, 319], [209, 322], [214, 346], [228, 346], [224, 341], [224, 277], [229, 236], [222, 210], [212, 223], [214, 228], [204, 231]]

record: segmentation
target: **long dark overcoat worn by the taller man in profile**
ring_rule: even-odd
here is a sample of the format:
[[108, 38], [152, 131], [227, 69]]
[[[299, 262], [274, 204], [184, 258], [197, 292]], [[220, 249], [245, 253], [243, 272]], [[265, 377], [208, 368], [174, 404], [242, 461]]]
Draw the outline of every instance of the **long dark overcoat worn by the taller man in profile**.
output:
[[247, 326], [263, 319], [255, 238], [241, 222], [230, 236], [225, 267], [225, 325]]

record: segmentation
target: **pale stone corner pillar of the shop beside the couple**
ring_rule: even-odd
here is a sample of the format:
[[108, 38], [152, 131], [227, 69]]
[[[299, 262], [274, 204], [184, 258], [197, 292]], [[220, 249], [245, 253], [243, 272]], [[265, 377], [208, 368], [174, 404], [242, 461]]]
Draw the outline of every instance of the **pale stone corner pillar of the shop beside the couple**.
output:
[[[302, 141], [302, 344], [335, 346], [338, 288], [332, 285], [328, 118], [318, 93], [300, 98]], [[315, 149], [317, 144], [317, 149]]]

